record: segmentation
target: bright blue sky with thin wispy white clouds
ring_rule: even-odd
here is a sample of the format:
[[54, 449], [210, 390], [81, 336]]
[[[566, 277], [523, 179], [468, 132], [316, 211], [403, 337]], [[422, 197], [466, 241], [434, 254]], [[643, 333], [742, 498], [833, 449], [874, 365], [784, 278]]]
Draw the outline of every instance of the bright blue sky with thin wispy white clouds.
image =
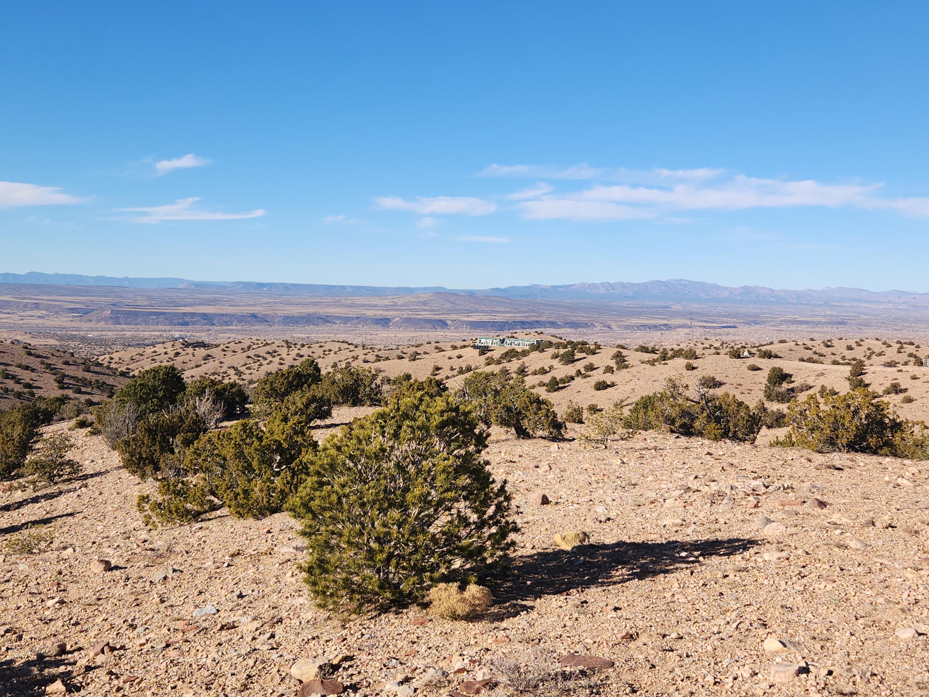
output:
[[929, 291], [924, 3], [18, 3], [0, 270]]

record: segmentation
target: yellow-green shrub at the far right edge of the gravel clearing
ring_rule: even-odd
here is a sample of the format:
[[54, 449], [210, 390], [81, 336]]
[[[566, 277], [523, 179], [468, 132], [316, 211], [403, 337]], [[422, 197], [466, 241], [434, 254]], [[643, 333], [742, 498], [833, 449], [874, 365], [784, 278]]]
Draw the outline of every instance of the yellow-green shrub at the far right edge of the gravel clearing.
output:
[[818, 453], [869, 453], [927, 457], [924, 425], [899, 419], [890, 405], [868, 389], [844, 395], [817, 395], [793, 401], [787, 411], [791, 429], [772, 445], [801, 447]]

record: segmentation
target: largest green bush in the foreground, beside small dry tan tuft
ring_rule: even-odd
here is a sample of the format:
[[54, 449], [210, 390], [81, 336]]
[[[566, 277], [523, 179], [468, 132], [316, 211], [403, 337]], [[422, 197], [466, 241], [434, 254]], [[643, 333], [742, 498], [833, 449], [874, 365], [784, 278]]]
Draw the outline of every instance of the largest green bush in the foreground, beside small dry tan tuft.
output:
[[290, 509], [321, 607], [386, 610], [501, 572], [517, 525], [472, 406], [412, 383], [305, 455]]

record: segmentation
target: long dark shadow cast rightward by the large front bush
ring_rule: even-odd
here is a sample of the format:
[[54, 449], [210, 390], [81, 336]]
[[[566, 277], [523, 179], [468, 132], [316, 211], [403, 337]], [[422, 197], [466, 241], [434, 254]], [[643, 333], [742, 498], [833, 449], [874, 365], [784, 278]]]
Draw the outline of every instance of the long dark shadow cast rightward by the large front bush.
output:
[[545, 549], [516, 559], [512, 572], [494, 595], [501, 602], [520, 603], [570, 590], [608, 587], [699, 568], [699, 559], [731, 557], [758, 544], [757, 540], [669, 540], [614, 542], [576, 546], [570, 551]]

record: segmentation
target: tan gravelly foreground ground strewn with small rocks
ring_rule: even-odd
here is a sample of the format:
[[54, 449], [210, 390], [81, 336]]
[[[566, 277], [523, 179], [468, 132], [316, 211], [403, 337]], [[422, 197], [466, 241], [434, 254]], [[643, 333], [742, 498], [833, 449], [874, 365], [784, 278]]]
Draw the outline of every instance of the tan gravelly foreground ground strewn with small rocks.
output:
[[[151, 530], [135, 508], [150, 485], [98, 436], [68, 433], [78, 480], [0, 494], [3, 694], [293, 695], [292, 666], [320, 658], [355, 695], [504, 695], [517, 664], [548, 677], [538, 694], [929, 690], [923, 463], [498, 433], [488, 457], [522, 532], [491, 612], [345, 619], [307, 598], [287, 515]], [[54, 538], [20, 554], [24, 531]], [[553, 541], [581, 532], [569, 550]], [[561, 667], [571, 653], [612, 667]]]

